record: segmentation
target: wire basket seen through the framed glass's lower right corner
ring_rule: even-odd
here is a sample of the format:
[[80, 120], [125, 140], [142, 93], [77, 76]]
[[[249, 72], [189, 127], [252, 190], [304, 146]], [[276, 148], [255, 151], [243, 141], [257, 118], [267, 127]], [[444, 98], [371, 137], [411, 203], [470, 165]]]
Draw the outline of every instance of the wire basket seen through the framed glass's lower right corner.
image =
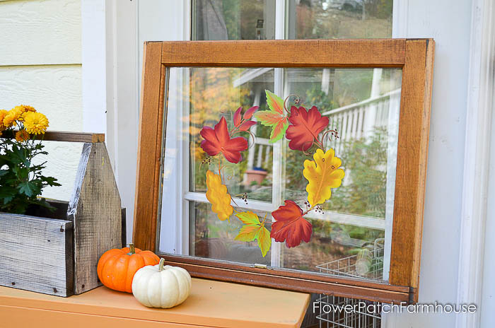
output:
[[378, 238], [373, 245], [363, 247], [359, 254], [318, 264], [316, 267], [324, 274], [382, 281], [384, 243], [385, 239]]

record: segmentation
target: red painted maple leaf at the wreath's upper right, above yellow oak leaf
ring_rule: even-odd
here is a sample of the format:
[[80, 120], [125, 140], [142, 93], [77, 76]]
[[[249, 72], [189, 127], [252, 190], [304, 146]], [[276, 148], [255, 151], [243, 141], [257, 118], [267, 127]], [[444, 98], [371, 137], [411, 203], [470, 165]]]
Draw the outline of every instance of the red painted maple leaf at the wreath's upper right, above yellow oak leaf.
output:
[[328, 117], [322, 117], [320, 111], [315, 106], [310, 110], [304, 107], [291, 107], [289, 122], [292, 125], [286, 131], [289, 141], [289, 148], [295, 151], [307, 151], [313, 141], [318, 140], [318, 134], [327, 127]]

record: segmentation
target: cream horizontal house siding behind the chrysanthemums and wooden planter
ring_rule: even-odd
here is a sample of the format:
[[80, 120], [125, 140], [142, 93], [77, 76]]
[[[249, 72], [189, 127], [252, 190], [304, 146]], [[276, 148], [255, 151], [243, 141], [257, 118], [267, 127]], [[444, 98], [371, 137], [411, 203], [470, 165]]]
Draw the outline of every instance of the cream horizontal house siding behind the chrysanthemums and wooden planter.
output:
[[[32, 105], [50, 131], [83, 131], [81, 85], [81, 1], [0, 1], [0, 108]], [[69, 199], [81, 147], [46, 142], [45, 173], [62, 187], [43, 196]]]

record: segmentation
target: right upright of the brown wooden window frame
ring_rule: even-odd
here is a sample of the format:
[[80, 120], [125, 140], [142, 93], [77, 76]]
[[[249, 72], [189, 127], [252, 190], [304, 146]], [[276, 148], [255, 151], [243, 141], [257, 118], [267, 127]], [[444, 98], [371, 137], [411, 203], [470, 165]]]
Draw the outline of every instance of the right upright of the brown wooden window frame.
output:
[[428, 156], [433, 40], [407, 40], [402, 70], [390, 283], [412, 288], [417, 301]]

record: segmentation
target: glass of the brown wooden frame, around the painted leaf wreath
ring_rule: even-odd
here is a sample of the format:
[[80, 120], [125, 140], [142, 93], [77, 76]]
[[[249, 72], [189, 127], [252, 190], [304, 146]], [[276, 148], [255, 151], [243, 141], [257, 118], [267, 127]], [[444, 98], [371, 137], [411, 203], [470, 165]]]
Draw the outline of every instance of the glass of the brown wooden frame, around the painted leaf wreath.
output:
[[[387, 281], [401, 73], [400, 69], [170, 69], [160, 251]], [[328, 124], [315, 132], [313, 145], [303, 151], [291, 147], [287, 133], [270, 142], [272, 127], [261, 122], [249, 131], [233, 132], [239, 126], [235, 110], [244, 107], [246, 113], [249, 107], [260, 106], [252, 117], [260, 119], [260, 111], [269, 110], [266, 90], [275, 86], [283, 86], [276, 100], [282, 116], [311, 109], [325, 121], [328, 118]], [[223, 142], [215, 130], [222, 117], [229, 143], [237, 136], [248, 140], [238, 163], [229, 162], [224, 152], [228, 143], [218, 146], [217, 153], [202, 146], [206, 139]], [[209, 137], [206, 130], [201, 132], [205, 126], [211, 127], [206, 129]], [[326, 200], [310, 206], [309, 179], [303, 169], [306, 161], [317, 162], [318, 148], [334, 150], [345, 176], [342, 185], [332, 185]], [[216, 187], [206, 185], [208, 171], [218, 176]], [[209, 196], [207, 192], [214, 189], [223, 191]], [[223, 217], [219, 199], [226, 203], [223, 208], [233, 206]], [[270, 235], [281, 230], [273, 212], [287, 206], [287, 200], [296, 212], [301, 210], [299, 222], [310, 227], [307, 238], [296, 238], [295, 245], [288, 241], [294, 234], [288, 233], [281, 242]], [[248, 211], [252, 212], [248, 219], [236, 216]], [[239, 237], [247, 225], [257, 231], [262, 227], [274, 237], [265, 238], [270, 244], [265, 256], [259, 235]]]

